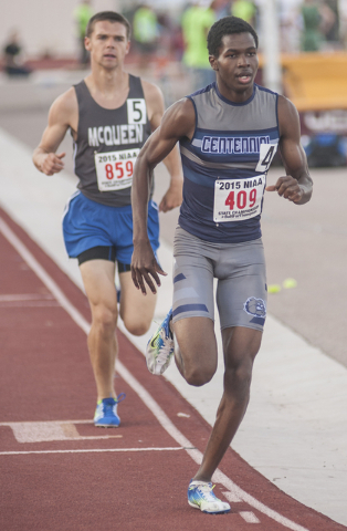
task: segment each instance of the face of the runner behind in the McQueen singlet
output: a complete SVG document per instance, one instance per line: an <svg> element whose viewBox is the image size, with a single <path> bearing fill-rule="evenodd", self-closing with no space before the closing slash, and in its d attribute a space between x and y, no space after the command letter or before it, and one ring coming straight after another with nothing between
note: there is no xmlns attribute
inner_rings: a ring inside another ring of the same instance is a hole
<svg viewBox="0 0 347 531"><path fill-rule="evenodd" d="M85 38L85 48L91 52L92 62L109 70L124 62L129 46L126 28L120 22L98 21L91 38Z"/></svg>

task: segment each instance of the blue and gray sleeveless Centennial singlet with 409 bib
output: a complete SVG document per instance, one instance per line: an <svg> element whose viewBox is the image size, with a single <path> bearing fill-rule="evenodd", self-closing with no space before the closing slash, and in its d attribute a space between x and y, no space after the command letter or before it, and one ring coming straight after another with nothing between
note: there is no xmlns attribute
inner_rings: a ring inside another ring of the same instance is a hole
<svg viewBox="0 0 347 531"><path fill-rule="evenodd" d="M211 242L261 238L266 174L280 140L278 95L254 85L246 102L233 103L213 83L188 97L196 129L191 140L180 140L185 184L179 225Z"/></svg>

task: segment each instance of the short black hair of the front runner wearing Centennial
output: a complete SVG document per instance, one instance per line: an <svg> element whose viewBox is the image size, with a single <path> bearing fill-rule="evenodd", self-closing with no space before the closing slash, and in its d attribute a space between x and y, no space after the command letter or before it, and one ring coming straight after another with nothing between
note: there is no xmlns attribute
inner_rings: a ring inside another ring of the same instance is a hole
<svg viewBox="0 0 347 531"><path fill-rule="evenodd" d="M251 35L254 38L255 48L257 48L257 34L251 24L243 19L239 19L238 17L224 17L223 19L214 22L214 24L210 28L208 34L209 54L218 58L219 50L222 46L223 37L232 35L234 33L251 33Z"/></svg>

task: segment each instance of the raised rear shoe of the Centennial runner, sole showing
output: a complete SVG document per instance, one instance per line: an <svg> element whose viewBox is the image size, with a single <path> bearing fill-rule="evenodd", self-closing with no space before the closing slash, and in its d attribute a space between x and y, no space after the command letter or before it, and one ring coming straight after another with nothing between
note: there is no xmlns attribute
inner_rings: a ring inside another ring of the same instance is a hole
<svg viewBox="0 0 347 531"><path fill-rule="evenodd" d="M172 309L169 311L157 332L150 337L146 348L146 362L151 374L160 375L170 365L175 351L174 335L170 330Z"/></svg>

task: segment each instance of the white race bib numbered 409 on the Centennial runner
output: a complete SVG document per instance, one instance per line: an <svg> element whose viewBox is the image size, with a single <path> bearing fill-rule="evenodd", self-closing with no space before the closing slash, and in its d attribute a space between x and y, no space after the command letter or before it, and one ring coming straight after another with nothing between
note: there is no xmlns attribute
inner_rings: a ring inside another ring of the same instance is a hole
<svg viewBox="0 0 347 531"><path fill-rule="evenodd" d="M213 221L243 221L261 214L265 175L214 183Z"/></svg>

